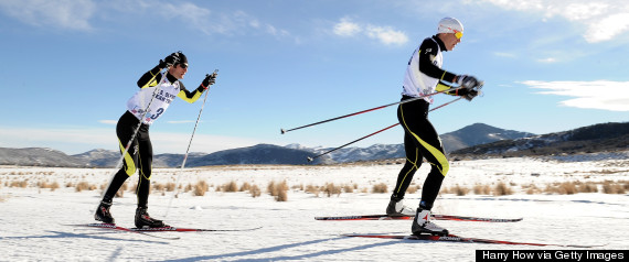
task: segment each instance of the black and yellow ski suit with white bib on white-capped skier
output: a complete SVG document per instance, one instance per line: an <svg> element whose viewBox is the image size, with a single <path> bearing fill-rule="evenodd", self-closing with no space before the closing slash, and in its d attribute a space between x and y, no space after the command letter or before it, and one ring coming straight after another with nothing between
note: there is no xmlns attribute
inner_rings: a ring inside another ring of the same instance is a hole
<svg viewBox="0 0 629 262"><path fill-rule="evenodd" d="M444 42L436 35L424 40L419 47L415 50L408 62L402 100L446 90L451 87L444 80L454 81L456 75L440 68L441 51L445 50ZM456 96L459 94L448 95ZM423 159L426 159L431 168L422 187L419 207L423 209L433 207L441 188L441 183L449 170L439 134L428 120L428 108L431 101L431 98L417 99L402 103L397 108L397 119L404 129L406 163L399 171L391 199L398 201L404 198L415 172L422 166Z"/></svg>

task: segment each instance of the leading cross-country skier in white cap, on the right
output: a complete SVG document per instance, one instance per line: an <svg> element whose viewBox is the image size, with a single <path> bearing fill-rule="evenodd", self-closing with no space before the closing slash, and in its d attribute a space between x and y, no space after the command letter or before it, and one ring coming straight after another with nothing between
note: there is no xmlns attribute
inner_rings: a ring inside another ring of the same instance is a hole
<svg viewBox="0 0 629 262"><path fill-rule="evenodd" d="M437 34L425 39L413 52L406 74L402 100L422 97L435 91L451 88L447 83L458 84L461 89L449 91L448 95L462 96L468 100L478 96L475 87L480 85L473 76L455 75L441 69L443 52L451 51L461 42L463 25L457 19L444 18L439 21ZM390 216L413 216L412 231L430 234L448 234L448 230L431 222L433 204L437 198L441 182L449 170L448 160L439 135L428 120L428 107L433 99L426 97L411 102L401 103L397 108L397 119L404 128L404 149L406 163L399 171L397 183L393 189L391 201L386 208ZM417 210L403 205L404 194L413 175L422 165L423 159L431 165L430 173L424 182L422 199Z"/></svg>

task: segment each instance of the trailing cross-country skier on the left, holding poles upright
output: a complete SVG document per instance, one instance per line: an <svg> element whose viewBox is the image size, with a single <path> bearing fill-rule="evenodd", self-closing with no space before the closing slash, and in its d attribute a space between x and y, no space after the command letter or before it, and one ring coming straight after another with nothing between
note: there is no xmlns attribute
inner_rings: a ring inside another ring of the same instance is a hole
<svg viewBox="0 0 629 262"><path fill-rule="evenodd" d="M168 70L162 73L161 70L164 68ZM163 221L151 218L147 212L153 157L149 127L163 114L177 97L192 103L216 80L216 73L207 75L196 89L189 91L180 81L186 72L188 58L180 51L160 59L156 67L145 73L138 80L140 90L127 101L127 111L120 117L116 125L120 151L125 152L125 146L130 139L132 139L132 143L124 155L124 166L114 176L94 215L96 220L106 223L115 222L109 212L111 200L125 181L132 176L136 171L139 171L136 189L138 195L136 227L166 227ZM138 133L131 138L138 125L140 127Z"/></svg>

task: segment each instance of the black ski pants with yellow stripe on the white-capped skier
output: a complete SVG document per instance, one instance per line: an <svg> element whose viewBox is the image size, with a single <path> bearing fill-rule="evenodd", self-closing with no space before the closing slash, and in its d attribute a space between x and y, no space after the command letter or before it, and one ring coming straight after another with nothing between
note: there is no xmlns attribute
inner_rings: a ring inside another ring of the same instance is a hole
<svg viewBox="0 0 629 262"><path fill-rule="evenodd" d="M402 100L411 99L404 96ZM402 103L397 107L397 119L404 129L404 150L406 162L397 175L392 199L404 198L415 172L422 166L423 159L430 164L430 173L422 188L419 207L431 209L441 188L441 183L449 170L448 160L439 134L428 120L429 103L424 99Z"/></svg>

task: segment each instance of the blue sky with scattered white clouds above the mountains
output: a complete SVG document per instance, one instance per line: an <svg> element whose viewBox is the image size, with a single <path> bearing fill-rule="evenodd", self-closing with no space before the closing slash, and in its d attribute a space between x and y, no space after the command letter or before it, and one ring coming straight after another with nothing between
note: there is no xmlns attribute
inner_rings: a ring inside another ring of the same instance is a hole
<svg viewBox="0 0 629 262"><path fill-rule="evenodd" d="M486 86L430 114L439 133L629 121L621 0L2 0L0 146L116 150L137 79L175 51L189 57L186 87L220 69L191 151L338 146L395 123L395 107L279 130L397 101L412 52L444 17L465 25L444 68ZM201 102L175 100L151 127L156 153L185 152ZM356 145L375 143L402 143L402 130Z"/></svg>

